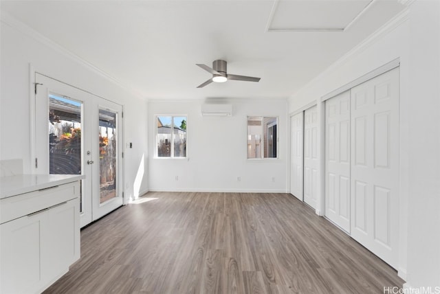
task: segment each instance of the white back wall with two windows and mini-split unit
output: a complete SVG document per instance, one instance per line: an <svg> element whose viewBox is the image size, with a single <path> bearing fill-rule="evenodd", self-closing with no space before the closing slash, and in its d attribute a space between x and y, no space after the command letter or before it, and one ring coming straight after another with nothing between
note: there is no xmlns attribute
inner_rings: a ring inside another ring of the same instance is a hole
<svg viewBox="0 0 440 294"><path fill-rule="evenodd" d="M228 100L223 103L232 104L232 116L202 117L202 100L148 102L149 190L287 191L286 101ZM154 158L155 115L188 116L188 159ZM247 159L248 115L278 117L278 159ZM241 177L241 181L237 181L237 177Z"/></svg>

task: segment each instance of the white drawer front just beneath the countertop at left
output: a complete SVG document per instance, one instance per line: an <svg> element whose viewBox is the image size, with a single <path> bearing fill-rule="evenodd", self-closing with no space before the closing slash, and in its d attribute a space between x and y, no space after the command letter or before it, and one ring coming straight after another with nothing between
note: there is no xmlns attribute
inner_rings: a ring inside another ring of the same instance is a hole
<svg viewBox="0 0 440 294"><path fill-rule="evenodd" d="M45 210L80 195L79 182L67 183L0 200L0 223Z"/></svg>

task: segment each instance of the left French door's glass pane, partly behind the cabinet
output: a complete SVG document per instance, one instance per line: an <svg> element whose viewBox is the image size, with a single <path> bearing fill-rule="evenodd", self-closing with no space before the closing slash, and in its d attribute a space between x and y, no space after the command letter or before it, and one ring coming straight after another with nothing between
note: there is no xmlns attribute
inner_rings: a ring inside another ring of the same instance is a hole
<svg viewBox="0 0 440 294"><path fill-rule="evenodd" d="M81 111L83 104L49 95L49 172L81 174ZM82 183L81 183L82 184ZM80 212L83 197L80 197Z"/></svg>

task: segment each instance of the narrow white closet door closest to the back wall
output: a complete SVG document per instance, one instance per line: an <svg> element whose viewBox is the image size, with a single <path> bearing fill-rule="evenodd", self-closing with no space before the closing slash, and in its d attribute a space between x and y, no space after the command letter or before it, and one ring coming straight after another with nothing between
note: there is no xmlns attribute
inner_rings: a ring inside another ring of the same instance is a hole
<svg viewBox="0 0 440 294"><path fill-rule="evenodd" d="M290 193L303 201L303 113L290 117Z"/></svg>

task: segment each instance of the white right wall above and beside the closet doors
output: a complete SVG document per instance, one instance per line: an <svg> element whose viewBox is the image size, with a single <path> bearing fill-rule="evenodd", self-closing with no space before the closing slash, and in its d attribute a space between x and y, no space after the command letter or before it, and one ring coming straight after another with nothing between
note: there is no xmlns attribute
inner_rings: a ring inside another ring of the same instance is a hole
<svg viewBox="0 0 440 294"><path fill-rule="evenodd" d="M289 111L399 58L398 273L418 288L440 286L440 1L407 3L406 12L292 95Z"/></svg>

